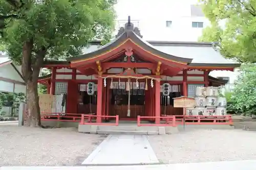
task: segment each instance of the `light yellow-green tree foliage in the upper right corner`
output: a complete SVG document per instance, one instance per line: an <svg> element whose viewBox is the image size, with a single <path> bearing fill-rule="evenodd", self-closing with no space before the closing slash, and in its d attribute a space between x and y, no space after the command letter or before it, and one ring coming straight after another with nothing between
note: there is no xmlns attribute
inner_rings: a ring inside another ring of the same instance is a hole
<svg viewBox="0 0 256 170"><path fill-rule="evenodd" d="M256 0L199 0L211 26L199 41L219 42L221 53L256 62Z"/></svg>

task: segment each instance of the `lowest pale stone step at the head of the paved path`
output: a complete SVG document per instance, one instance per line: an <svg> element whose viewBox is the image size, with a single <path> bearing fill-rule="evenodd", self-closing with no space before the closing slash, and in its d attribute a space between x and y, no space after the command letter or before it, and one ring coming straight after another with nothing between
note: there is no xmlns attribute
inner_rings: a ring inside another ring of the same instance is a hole
<svg viewBox="0 0 256 170"><path fill-rule="evenodd" d="M131 134L131 135L158 135L158 131L139 130L97 130L98 134Z"/></svg>

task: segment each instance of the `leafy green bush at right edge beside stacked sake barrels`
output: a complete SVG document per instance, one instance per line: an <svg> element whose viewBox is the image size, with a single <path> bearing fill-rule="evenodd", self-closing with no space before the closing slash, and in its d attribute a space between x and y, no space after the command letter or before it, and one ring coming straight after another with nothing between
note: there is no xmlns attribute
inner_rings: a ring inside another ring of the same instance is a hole
<svg viewBox="0 0 256 170"><path fill-rule="evenodd" d="M256 66L241 67L241 76L236 82L231 102L232 109L244 115L256 113Z"/></svg>

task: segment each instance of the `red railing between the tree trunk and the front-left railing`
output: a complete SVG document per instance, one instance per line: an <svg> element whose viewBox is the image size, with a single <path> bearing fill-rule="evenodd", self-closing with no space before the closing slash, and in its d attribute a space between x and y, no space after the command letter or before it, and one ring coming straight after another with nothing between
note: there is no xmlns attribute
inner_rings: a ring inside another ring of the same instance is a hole
<svg viewBox="0 0 256 170"><path fill-rule="evenodd" d="M59 122L80 122L81 114L77 113L41 113L43 121L59 121Z"/></svg>

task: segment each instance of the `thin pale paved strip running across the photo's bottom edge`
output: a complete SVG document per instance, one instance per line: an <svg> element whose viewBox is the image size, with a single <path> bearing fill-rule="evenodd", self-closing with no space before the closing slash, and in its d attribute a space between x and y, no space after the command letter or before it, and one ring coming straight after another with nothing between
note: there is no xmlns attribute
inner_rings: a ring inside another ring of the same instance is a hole
<svg viewBox="0 0 256 170"><path fill-rule="evenodd" d="M256 160L134 166L20 166L0 170L255 170Z"/></svg>

